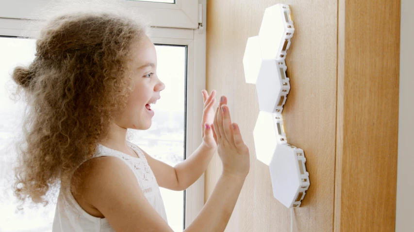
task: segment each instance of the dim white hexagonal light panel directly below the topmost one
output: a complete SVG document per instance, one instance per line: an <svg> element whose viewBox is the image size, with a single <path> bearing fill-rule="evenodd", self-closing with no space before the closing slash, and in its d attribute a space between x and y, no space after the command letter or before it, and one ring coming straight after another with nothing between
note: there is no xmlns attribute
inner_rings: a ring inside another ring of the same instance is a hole
<svg viewBox="0 0 414 232"><path fill-rule="evenodd" d="M256 81L259 109L268 113L282 113L290 90L286 65L275 59L262 60Z"/></svg>

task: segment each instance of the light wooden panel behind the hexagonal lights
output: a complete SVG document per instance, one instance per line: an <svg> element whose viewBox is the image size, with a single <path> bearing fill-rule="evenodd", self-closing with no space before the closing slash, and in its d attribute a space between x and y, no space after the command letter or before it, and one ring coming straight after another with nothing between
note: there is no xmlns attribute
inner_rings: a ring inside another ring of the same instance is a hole
<svg viewBox="0 0 414 232"><path fill-rule="evenodd" d="M294 231L333 231L337 0L208 0L207 89L226 95L234 122L250 149L251 168L228 232L287 232L290 210L273 198L268 167L256 160L253 129L259 114L254 85L246 84L243 55L248 37L259 33L265 8L289 4L295 35L288 51L291 91L283 110L288 142L305 151L311 187L295 209ZM221 174L213 158L205 175L207 199Z"/></svg>

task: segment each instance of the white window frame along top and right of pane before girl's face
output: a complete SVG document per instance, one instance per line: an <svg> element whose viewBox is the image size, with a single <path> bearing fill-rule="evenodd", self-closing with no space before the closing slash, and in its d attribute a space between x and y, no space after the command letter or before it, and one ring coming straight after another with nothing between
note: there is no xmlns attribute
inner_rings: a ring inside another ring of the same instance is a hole
<svg viewBox="0 0 414 232"><path fill-rule="evenodd" d="M204 8L204 7L203 7ZM205 15L205 14L204 14ZM201 117L206 87L205 33L193 29L155 28L151 40L158 44L187 46L187 108L186 108L186 157L201 144ZM204 206L204 174L185 193L185 228L197 217Z"/></svg>

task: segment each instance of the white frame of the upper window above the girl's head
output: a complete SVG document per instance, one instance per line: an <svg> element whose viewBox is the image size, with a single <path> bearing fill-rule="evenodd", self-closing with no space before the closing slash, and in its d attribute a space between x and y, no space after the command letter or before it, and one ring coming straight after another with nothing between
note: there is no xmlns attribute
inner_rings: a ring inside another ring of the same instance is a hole
<svg viewBox="0 0 414 232"><path fill-rule="evenodd" d="M0 0L0 18L30 19L33 11L50 0ZM198 0L175 0L175 3L124 0L138 14L150 18L151 26L197 29Z"/></svg>

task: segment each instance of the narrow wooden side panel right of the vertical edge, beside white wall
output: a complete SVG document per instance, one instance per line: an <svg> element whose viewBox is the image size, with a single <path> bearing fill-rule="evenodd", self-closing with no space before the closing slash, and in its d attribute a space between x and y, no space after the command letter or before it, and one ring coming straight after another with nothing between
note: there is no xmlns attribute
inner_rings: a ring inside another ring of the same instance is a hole
<svg viewBox="0 0 414 232"><path fill-rule="evenodd" d="M339 0L335 232L394 231L399 0Z"/></svg>

